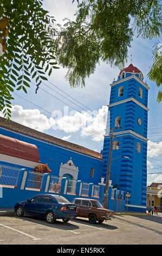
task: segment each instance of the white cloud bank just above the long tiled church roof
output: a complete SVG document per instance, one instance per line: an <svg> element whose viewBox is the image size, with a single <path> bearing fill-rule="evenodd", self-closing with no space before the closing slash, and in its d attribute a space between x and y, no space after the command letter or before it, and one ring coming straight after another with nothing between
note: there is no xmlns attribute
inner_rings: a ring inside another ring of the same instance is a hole
<svg viewBox="0 0 162 256"><path fill-rule="evenodd" d="M63 115L61 111L54 111L50 118L41 114L39 109L24 109L20 105L12 106L11 120L37 131L44 132L48 129L62 130L66 133L81 130L81 137L92 136L93 141L102 141L105 134L107 106L102 106L99 111L76 112ZM1 116L3 114L1 113ZM64 136L67 140L71 137Z"/></svg>

